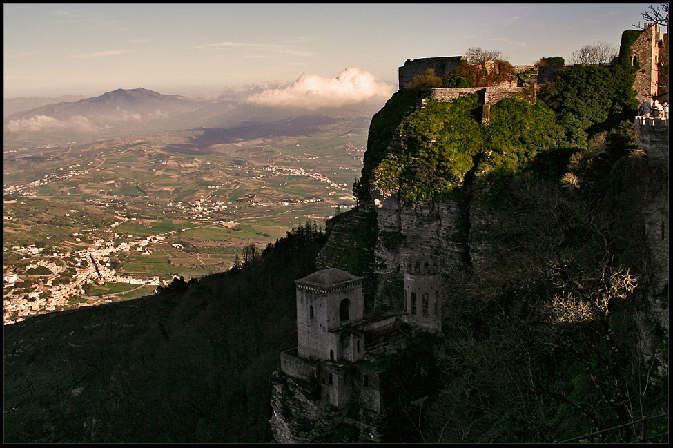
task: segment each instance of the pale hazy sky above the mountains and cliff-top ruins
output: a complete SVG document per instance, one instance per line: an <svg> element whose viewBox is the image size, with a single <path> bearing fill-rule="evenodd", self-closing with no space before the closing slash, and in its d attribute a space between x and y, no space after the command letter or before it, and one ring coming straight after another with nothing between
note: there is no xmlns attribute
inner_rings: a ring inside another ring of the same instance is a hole
<svg viewBox="0 0 673 448"><path fill-rule="evenodd" d="M4 97L195 95L302 74L326 86L348 67L397 84L407 59L473 46L512 64L567 61L589 43L618 46L647 5L5 4Z"/></svg>

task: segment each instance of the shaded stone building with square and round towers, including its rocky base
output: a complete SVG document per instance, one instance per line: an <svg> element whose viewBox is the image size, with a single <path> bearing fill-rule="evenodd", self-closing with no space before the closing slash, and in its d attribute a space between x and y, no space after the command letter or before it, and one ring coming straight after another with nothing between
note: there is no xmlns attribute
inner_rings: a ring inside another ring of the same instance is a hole
<svg viewBox="0 0 673 448"><path fill-rule="evenodd" d="M440 259L408 262L404 310L366 316L362 277L336 268L295 280L297 347L281 353L272 377L277 442L324 442L347 422L360 442L381 441L385 369L377 356L405 346L400 324L441 330Z"/></svg>

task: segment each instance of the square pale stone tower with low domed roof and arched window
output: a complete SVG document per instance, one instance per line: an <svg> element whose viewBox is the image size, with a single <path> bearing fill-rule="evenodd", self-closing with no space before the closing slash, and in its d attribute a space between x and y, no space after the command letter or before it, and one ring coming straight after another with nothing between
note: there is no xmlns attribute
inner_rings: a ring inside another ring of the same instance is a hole
<svg viewBox="0 0 673 448"><path fill-rule="evenodd" d="M351 362L364 357L364 339L342 336L342 327L363 319L362 277L328 268L295 280L295 285L298 356Z"/></svg>

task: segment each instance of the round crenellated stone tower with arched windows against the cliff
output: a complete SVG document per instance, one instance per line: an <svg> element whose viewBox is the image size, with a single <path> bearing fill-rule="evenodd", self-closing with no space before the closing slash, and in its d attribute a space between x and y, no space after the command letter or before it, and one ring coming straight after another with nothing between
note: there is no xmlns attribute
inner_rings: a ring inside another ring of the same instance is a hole
<svg viewBox="0 0 673 448"><path fill-rule="evenodd" d="M427 331L442 331L441 258L404 262L404 303L410 324Z"/></svg>

